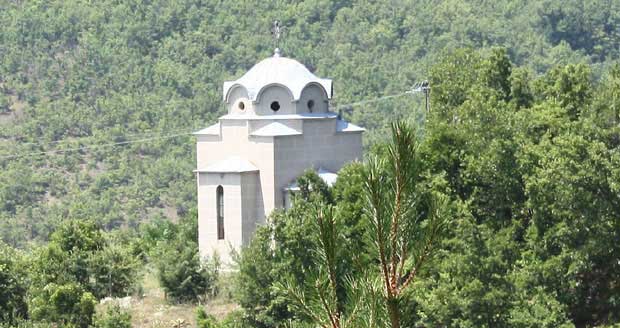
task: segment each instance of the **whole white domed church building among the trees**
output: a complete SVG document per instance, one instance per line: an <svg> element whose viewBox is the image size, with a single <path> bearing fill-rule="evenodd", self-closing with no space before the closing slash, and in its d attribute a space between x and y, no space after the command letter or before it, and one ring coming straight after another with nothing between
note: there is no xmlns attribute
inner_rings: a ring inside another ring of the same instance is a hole
<svg viewBox="0 0 620 328"><path fill-rule="evenodd" d="M290 206L306 170L331 184L361 160L364 129L330 111L330 79L277 49L223 91L228 113L194 134L200 255L227 266L271 211Z"/></svg>

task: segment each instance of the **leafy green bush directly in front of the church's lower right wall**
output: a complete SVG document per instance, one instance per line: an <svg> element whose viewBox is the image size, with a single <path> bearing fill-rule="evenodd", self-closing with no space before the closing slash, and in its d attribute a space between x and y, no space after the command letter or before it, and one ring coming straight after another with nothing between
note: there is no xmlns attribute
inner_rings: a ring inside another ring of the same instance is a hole
<svg viewBox="0 0 620 328"><path fill-rule="evenodd" d="M361 167L349 164L339 175L333 188L329 188L315 172L308 171L298 181L300 193L295 195L292 207L276 211L270 224L257 229L250 244L239 259L235 298L245 310L247 325L253 327L276 327L281 322L294 320L284 284L305 284L315 281L310 272L316 267L317 223L314 215L319 204L331 204L337 200L334 217L343 229L343 237L352 245L365 245L361 220L359 191L361 190ZM368 263L367 256L339 255L339 286L344 286L346 272L354 271ZM283 274L285 273L285 274ZM343 288L337 293L342 297Z"/></svg>

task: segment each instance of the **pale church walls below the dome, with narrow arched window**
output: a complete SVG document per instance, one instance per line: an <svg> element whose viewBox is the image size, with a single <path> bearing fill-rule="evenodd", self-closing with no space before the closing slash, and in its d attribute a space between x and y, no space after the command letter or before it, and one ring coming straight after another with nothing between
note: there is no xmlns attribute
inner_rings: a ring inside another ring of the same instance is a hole
<svg viewBox="0 0 620 328"><path fill-rule="evenodd" d="M276 116L276 115L273 115ZM252 131L278 122L301 135L250 136ZM336 118L221 119L220 136L199 136L198 170L240 157L259 171L198 173L199 246L202 256L219 253L230 263L230 247L239 249L252 238L266 216L284 205L284 188L307 169L338 172L348 162L362 159L362 133L337 132ZM226 241L217 240L216 188L224 187Z"/></svg>

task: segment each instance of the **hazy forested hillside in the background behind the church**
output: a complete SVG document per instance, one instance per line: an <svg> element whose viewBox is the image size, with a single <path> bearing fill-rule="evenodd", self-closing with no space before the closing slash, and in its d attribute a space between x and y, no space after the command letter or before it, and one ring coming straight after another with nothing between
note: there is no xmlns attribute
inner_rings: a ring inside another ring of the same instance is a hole
<svg viewBox="0 0 620 328"><path fill-rule="evenodd" d="M618 57L619 6L0 1L2 239L44 240L66 218L114 228L186 213L195 203L193 139L165 136L222 113L222 82L271 55L274 19L286 26L285 54L333 78L335 101L345 104L401 93L427 79L440 54L462 47L506 47L536 73L589 62L599 75ZM349 118L375 140L387 122L411 116L414 101L356 106Z"/></svg>

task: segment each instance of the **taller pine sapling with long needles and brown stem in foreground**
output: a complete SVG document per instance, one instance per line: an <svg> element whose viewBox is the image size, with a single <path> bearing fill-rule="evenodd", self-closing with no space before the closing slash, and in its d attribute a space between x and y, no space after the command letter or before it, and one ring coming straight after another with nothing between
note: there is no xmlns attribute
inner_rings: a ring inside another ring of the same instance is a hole
<svg viewBox="0 0 620 328"><path fill-rule="evenodd" d="M402 295L435 254L449 215L444 195L420 192L418 147L415 130L394 124L388 156L371 160L365 172L365 213L393 328L401 326Z"/></svg>

